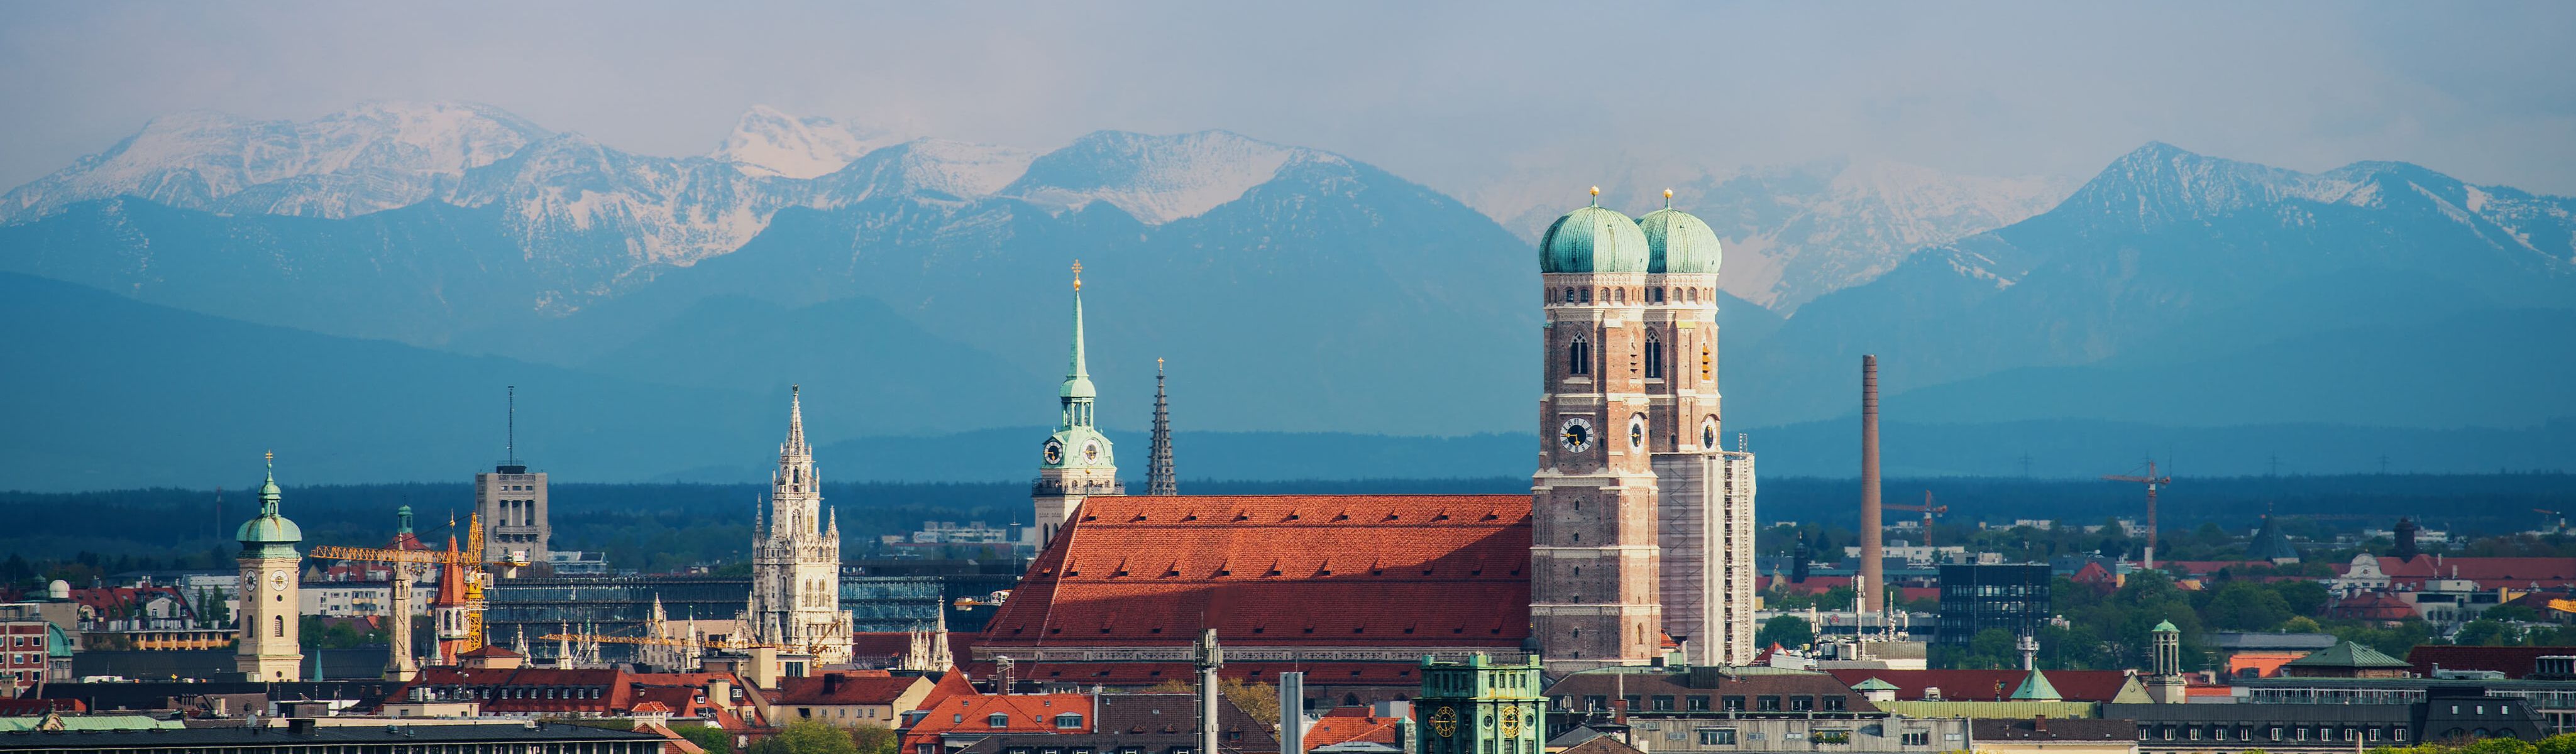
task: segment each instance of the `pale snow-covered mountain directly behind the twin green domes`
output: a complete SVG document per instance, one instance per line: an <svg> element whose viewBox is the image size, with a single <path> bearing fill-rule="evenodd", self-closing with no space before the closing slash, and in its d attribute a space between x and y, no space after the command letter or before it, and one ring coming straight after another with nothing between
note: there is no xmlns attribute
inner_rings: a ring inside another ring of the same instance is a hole
<svg viewBox="0 0 2576 754"><path fill-rule="evenodd" d="M1553 172L1551 172L1553 175ZM2048 211L2069 190L2063 178L1953 175L1904 162L1826 160L1744 170L1636 165L1602 185L1602 203L1649 211L1662 190L1698 214L1726 244L1718 288L1736 299L1798 311L1816 296L1886 275L1914 250L1999 229ZM1546 201L1520 185L1540 172L1479 193L1476 208L1525 239L1538 239L1571 208L1569 190ZM1556 180L1564 183L1564 180Z"/></svg>

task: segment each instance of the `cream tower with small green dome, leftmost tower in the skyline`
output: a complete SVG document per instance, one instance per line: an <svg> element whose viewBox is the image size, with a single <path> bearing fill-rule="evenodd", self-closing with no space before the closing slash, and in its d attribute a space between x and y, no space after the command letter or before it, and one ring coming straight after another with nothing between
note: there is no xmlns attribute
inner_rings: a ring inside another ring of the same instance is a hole
<svg viewBox="0 0 2576 754"><path fill-rule="evenodd" d="M260 484L260 515L242 522L242 610L234 615L240 643L232 667L252 682L304 679L301 582L304 528L278 512L278 453L268 453L268 481Z"/></svg>

